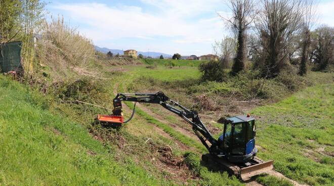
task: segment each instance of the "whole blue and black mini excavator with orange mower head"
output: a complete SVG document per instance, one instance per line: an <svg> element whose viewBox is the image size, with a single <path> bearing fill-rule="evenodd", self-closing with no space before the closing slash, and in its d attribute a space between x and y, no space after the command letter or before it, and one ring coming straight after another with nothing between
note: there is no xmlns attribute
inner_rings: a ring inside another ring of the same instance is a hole
<svg viewBox="0 0 334 186"><path fill-rule="evenodd" d="M202 160L217 162L222 169L235 174L242 180L248 180L252 176L273 169L273 161L263 162L256 157L258 149L255 146L255 118L249 115L219 119L218 122L224 125L224 131L216 140L202 123L196 111L183 107L159 91L155 94L117 94L113 100L112 115L98 115L98 120L117 127L130 121L134 116L135 107L131 117L124 121L122 101L135 102L135 106L137 102L159 104L177 114L192 125L194 133L208 150L208 154L202 155Z"/></svg>

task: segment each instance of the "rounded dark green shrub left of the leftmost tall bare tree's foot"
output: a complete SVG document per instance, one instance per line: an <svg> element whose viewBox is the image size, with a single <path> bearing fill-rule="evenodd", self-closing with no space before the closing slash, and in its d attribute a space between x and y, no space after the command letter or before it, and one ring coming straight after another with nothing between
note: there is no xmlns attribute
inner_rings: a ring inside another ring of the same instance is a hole
<svg viewBox="0 0 334 186"><path fill-rule="evenodd" d="M227 74L221 66L221 62L210 61L207 63L201 63L198 66L199 71L202 73L203 81L219 81L226 80Z"/></svg>

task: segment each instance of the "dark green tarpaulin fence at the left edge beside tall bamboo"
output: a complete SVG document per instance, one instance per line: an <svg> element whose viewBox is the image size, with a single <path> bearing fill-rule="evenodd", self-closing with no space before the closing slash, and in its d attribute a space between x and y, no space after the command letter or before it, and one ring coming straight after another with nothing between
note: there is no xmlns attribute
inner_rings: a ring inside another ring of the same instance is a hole
<svg viewBox="0 0 334 186"><path fill-rule="evenodd" d="M0 43L0 72L22 69L21 48L21 41Z"/></svg>

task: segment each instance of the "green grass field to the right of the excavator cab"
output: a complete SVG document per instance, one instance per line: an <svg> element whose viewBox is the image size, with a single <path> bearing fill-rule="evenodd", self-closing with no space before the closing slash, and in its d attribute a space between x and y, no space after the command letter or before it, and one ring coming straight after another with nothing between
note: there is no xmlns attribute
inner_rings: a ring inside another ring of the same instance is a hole
<svg viewBox="0 0 334 186"><path fill-rule="evenodd" d="M334 84L306 88L252 114L258 120L259 156L276 171L310 185L334 183Z"/></svg>

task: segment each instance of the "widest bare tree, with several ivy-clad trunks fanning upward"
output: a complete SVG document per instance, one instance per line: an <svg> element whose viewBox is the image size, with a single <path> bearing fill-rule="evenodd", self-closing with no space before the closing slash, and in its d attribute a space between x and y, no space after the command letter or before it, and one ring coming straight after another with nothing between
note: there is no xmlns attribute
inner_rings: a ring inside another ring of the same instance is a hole
<svg viewBox="0 0 334 186"><path fill-rule="evenodd" d="M301 31L304 0L261 0L256 28L262 39L266 77L275 77L284 67L288 51Z"/></svg>

